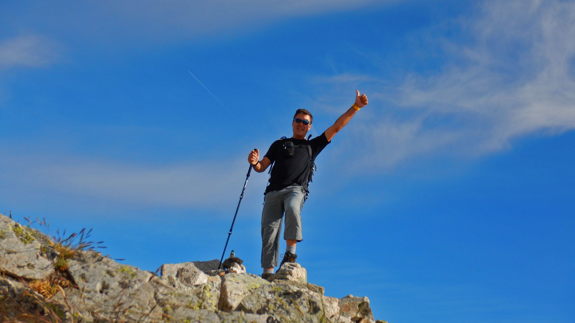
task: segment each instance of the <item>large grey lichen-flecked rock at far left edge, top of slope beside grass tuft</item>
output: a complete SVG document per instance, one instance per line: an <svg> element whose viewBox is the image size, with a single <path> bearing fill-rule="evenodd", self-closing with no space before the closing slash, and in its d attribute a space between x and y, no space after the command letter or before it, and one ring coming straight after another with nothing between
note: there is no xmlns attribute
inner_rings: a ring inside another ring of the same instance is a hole
<svg viewBox="0 0 575 323"><path fill-rule="evenodd" d="M47 278L54 266L40 256L38 235L37 230L0 215L0 271L26 279Z"/></svg>

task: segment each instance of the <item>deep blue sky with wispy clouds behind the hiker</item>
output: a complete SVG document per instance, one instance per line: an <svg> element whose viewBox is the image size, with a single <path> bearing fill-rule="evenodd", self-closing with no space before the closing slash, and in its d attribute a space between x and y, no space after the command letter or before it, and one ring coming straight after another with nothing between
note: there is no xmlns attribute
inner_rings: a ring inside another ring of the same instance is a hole
<svg viewBox="0 0 575 323"><path fill-rule="evenodd" d="M575 320L575 2L3 1L0 210L219 258L247 153L319 135L298 260L401 322ZM217 99L189 74L191 71ZM218 102L218 100L220 102ZM228 250L259 274L267 174Z"/></svg>

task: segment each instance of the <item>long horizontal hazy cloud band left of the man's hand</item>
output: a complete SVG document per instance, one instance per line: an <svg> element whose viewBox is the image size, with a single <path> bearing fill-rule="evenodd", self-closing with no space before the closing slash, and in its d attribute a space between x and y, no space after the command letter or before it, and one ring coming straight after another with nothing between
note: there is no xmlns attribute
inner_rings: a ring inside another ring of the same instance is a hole
<svg viewBox="0 0 575 323"><path fill-rule="evenodd" d="M248 164L242 159L142 166L60 155L8 155L0 161L0 168L2 190L11 187L48 195L57 193L60 199L71 203L78 203L78 197L84 197L91 199L89 204L96 208L97 201L106 201L137 207L229 211L230 205L237 203ZM266 179L266 176L253 176L251 186L263 187Z"/></svg>

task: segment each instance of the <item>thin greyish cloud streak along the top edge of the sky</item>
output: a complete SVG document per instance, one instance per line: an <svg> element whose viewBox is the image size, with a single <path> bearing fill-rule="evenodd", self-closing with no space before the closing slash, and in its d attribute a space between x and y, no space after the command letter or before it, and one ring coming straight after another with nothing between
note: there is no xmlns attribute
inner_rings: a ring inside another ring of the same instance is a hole
<svg viewBox="0 0 575 323"><path fill-rule="evenodd" d="M237 34L286 18L354 10L366 5L382 6L399 1L36 1L11 5L10 16L2 17L0 14L0 18L14 28L25 25L26 28L49 29L57 34L86 39L87 44L98 40L125 45L134 40L164 43L216 33Z"/></svg>

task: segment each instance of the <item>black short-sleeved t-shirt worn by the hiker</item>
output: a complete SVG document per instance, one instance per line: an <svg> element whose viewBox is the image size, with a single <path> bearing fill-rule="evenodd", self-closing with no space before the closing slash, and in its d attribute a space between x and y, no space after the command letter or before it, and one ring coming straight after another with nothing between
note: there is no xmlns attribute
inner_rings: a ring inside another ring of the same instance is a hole
<svg viewBox="0 0 575 323"><path fill-rule="evenodd" d="M309 145L312 148L312 160L309 159L307 147L296 147L292 157L285 156L283 146L288 141L291 141L294 146ZM289 138L274 141L266 153L266 157L275 162L271 169L270 184L266 187L266 193L285 189L293 184L305 187L313 161L328 144L325 132L312 140Z"/></svg>

